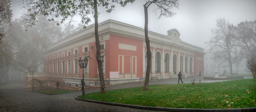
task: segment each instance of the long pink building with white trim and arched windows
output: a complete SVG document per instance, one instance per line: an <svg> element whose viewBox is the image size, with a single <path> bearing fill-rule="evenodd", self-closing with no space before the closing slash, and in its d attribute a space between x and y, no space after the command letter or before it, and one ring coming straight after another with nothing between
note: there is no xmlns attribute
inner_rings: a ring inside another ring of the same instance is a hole
<svg viewBox="0 0 256 112"><path fill-rule="evenodd" d="M147 56L144 29L115 20L99 23L99 37L102 38L100 52L105 81L110 85L137 82L145 77ZM190 74L204 74L203 48L180 40L176 29L168 35L148 32L152 67L150 76L159 79L177 78L182 71L184 77ZM91 47L94 46L95 52ZM45 72L51 80L80 82L82 69L78 59L90 56L85 71L85 82L99 82L94 24L81 29L45 48Z"/></svg>

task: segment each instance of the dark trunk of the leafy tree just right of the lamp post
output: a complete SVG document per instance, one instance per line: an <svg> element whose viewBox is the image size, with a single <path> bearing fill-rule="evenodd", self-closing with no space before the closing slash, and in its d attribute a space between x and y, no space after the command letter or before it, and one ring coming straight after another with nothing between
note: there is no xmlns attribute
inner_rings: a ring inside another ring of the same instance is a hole
<svg viewBox="0 0 256 112"><path fill-rule="evenodd" d="M100 59L100 44L99 44L99 34L98 34L98 11L97 11L97 0L94 1L94 20L95 20L95 43L96 43L96 58L98 63L98 70L99 70L99 81L100 81L100 92L105 93L106 87L105 87L105 81L103 77L103 68L102 68L102 62Z"/></svg>

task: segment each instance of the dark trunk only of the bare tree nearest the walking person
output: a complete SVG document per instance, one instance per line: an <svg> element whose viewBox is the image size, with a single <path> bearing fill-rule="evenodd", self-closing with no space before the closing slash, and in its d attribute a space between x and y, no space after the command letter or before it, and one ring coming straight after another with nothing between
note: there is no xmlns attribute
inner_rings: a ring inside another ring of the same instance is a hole
<svg viewBox="0 0 256 112"><path fill-rule="evenodd" d="M149 72L151 68L151 52L150 52L150 44L149 44L149 38L148 38L148 7L146 5L144 6L144 13L145 13L145 42L147 45L147 70L146 70L146 78L145 83L142 90L148 90L148 83L149 83ZM144 52L143 52L144 53ZM145 57L143 57L145 58Z"/></svg>

